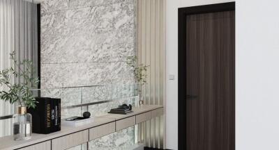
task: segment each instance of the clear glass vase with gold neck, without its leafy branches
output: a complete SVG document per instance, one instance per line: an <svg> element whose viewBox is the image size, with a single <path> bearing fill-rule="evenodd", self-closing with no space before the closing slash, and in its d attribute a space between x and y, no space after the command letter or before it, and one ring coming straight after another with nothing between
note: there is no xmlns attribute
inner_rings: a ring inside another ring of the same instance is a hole
<svg viewBox="0 0 279 150"><path fill-rule="evenodd" d="M32 115L24 106L18 107L18 113L13 115L14 140L29 140L32 133Z"/></svg>

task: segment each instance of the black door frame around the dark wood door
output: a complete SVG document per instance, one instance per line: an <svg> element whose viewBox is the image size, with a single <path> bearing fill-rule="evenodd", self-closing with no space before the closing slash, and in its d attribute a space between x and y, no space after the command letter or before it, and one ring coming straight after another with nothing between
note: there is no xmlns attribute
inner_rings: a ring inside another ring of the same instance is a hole
<svg viewBox="0 0 279 150"><path fill-rule="evenodd" d="M186 149L186 17L187 15L235 10L235 2L179 8L179 150Z"/></svg>

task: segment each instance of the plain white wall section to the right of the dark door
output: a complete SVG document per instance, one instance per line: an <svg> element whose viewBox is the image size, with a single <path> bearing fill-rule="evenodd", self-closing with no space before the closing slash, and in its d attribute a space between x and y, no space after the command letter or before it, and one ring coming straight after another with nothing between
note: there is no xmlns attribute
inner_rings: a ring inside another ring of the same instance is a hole
<svg viewBox="0 0 279 150"><path fill-rule="evenodd" d="M279 149L278 6L236 1L236 150Z"/></svg>

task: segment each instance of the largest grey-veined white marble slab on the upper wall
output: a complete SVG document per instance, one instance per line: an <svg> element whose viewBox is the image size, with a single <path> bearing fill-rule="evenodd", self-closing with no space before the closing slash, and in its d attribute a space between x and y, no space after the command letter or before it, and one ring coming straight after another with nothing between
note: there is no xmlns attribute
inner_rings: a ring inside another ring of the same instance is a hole
<svg viewBox="0 0 279 150"><path fill-rule="evenodd" d="M133 3L42 15L42 63L125 61L135 55Z"/></svg>

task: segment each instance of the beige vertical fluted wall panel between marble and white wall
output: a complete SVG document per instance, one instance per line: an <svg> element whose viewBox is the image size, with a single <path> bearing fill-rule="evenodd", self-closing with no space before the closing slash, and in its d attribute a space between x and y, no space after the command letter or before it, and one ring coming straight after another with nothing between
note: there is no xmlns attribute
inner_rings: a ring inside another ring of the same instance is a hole
<svg viewBox="0 0 279 150"><path fill-rule="evenodd" d="M144 103L165 105L165 0L137 1L137 55L149 65ZM165 148L165 115L139 124L138 137L147 147Z"/></svg>

